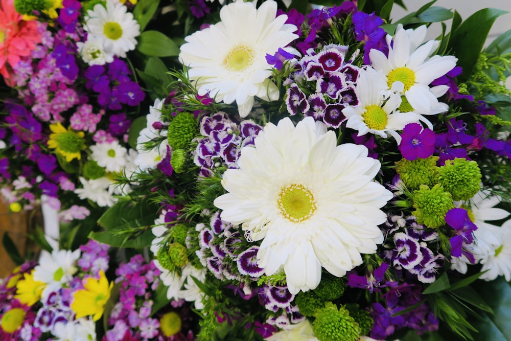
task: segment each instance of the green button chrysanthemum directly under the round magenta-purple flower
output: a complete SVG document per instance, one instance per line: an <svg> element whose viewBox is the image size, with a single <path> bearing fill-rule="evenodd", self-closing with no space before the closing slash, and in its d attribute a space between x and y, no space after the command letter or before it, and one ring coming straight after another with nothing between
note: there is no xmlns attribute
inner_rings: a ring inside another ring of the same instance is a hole
<svg viewBox="0 0 511 341"><path fill-rule="evenodd" d="M438 179L437 161L438 156L417 158L413 161L402 158L396 163L396 171L409 190L419 189L421 185L431 187L437 183Z"/></svg>

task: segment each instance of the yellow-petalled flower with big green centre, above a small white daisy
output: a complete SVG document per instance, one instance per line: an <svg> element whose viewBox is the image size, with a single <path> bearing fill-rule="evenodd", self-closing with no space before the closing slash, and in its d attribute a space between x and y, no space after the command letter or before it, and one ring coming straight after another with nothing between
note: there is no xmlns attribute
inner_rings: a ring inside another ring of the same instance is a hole
<svg viewBox="0 0 511 341"><path fill-rule="evenodd" d="M83 131L74 131L66 129L62 124L50 124L53 134L50 134L48 147L57 150L57 153L65 157L67 162L73 161L75 158L80 160L80 152L85 149L85 140Z"/></svg>

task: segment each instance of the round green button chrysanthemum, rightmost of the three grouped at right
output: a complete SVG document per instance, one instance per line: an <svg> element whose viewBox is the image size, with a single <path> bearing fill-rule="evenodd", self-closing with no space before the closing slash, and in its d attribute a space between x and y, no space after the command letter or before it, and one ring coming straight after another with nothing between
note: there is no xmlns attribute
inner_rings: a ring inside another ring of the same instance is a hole
<svg viewBox="0 0 511 341"><path fill-rule="evenodd" d="M481 171L477 162L456 157L439 168L438 182L453 200L469 200L481 189Z"/></svg>

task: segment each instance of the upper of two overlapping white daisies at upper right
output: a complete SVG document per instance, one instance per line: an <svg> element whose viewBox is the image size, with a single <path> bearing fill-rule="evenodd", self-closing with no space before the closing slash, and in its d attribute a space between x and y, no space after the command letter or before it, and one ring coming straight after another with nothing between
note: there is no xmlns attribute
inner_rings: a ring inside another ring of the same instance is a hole
<svg viewBox="0 0 511 341"><path fill-rule="evenodd" d="M369 52L371 65L383 71L387 77L386 89L404 95L414 112L420 115L434 115L447 111L448 105L439 103L438 97L449 89L446 85L429 87L438 77L444 76L456 66L454 56L432 56L439 41L430 40L419 46L426 37L426 26L416 30L405 30L401 24L392 37L387 35L388 57L378 50ZM407 110L408 111L408 110ZM431 123L423 119L430 126Z"/></svg>

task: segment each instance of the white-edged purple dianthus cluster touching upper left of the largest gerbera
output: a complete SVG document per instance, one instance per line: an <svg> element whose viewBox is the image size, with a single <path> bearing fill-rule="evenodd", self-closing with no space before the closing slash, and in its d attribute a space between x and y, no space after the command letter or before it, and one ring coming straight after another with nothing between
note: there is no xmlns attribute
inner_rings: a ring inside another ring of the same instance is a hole
<svg viewBox="0 0 511 341"><path fill-rule="evenodd" d="M253 145L262 127L245 120L239 125L223 112L204 117L200 122L199 140L194 153L194 163L200 167L199 176L211 176L215 168L237 168L241 148Z"/></svg>

